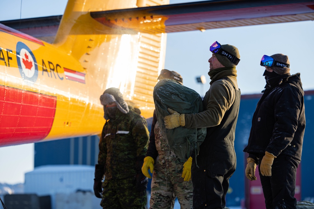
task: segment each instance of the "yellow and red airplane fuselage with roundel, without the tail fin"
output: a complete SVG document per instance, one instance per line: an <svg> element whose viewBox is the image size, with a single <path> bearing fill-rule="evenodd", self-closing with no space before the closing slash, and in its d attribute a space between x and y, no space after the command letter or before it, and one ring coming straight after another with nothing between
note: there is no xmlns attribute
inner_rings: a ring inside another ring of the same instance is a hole
<svg viewBox="0 0 314 209"><path fill-rule="evenodd" d="M4 25L0 33L0 146L98 134L99 86L78 60Z"/></svg>

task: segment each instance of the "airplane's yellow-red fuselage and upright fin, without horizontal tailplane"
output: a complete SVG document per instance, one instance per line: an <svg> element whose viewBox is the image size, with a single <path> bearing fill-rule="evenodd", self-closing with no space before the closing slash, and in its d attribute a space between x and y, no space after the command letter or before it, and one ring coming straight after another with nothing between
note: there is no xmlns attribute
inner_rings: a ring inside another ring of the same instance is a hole
<svg viewBox="0 0 314 209"><path fill-rule="evenodd" d="M136 5L106 2L105 9ZM88 12L98 4L70 0L53 44L0 28L0 146L99 134L99 97L109 87L152 117L165 35L104 34Z"/></svg>

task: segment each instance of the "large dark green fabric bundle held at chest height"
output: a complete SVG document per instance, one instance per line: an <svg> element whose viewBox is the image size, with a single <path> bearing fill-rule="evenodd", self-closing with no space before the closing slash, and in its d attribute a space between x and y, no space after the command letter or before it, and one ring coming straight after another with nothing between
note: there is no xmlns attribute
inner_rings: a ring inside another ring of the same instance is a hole
<svg viewBox="0 0 314 209"><path fill-rule="evenodd" d="M204 110L202 98L199 94L182 86L178 81L162 79L154 87L154 102L156 116L161 127L161 132L170 149L181 160L187 160L192 152L198 154L199 146L206 136L206 128L177 127L167 129L164 117L170 115L167 108L171 108L180 114L198 113ZM192 156L194 158L194 156Z"/></svg>

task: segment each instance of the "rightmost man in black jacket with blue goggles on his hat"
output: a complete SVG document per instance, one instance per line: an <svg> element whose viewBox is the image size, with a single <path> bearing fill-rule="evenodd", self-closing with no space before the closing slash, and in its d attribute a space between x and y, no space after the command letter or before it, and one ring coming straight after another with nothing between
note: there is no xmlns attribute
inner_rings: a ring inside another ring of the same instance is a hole
<svg viewBox="0 0 314 209"><path fill-rule="evenodd" d="M290 62L283 54L264 55L261 65L266 86L243 150L249 154L245 173L249 180L256 180L259 165L267 209L296 209L296 169L306 124L300 73L290 75Z"/></svg>

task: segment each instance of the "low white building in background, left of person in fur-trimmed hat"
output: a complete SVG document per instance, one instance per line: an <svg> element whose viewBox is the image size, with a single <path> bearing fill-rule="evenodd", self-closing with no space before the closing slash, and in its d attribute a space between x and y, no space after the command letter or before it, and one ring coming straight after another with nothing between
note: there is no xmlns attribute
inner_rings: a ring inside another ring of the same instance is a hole
<svg viewBox="0 0 314 209"><path fill-rule="evenodd" d="M38 166L25 174L24 193L51 197L53 209L100 208L93 191L94 171L91 165Z"/></svg>

